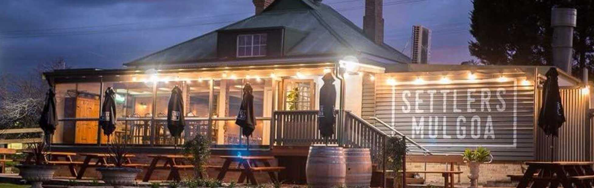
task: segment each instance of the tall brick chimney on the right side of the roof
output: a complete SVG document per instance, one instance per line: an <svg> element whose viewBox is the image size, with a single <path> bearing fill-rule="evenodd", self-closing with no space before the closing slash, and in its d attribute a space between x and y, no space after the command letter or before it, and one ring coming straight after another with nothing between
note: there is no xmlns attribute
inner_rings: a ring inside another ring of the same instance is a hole
<svg viewBox="0 0 594 188"><path fill-rule="evenodd" d="M384 43L384 0L365 0L363 31L376 44Z"/></svg>

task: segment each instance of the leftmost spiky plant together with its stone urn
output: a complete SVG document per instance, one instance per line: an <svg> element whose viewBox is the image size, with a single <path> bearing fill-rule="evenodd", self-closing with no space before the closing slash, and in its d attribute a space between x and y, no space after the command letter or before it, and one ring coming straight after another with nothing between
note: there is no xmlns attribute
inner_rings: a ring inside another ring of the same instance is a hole
<svg viewBox="0 0 594 188"><path fill-rule="evenodd" d="M47 145L45 142L29 144L31 154L34 157L34 164L17 165L20 170L19 175L24 180L31 183L32 188L42 188L43 181L52 180L53 173L56 171L56 166L48 165L46 160Z"/></svg>

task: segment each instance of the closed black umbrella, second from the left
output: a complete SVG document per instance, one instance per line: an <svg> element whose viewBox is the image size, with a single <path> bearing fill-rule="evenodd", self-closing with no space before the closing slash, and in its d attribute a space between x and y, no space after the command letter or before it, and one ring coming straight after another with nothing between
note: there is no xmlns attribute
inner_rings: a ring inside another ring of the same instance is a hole
<svg viewBox="0 0 594 188"><path fill-rule="evenodd" d="M115 130L117 122L116 107L115 107L115 90L108 87L103 96L103 106L101 107L101 116L99 117L99 126L103 129L103 134L109 136Z"/></svg>

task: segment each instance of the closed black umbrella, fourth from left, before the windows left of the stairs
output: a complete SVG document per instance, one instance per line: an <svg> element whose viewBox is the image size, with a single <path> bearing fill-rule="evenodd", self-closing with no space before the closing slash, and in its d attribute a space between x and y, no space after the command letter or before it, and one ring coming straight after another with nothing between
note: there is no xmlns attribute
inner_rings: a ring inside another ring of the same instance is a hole
<svg viewBox="0 0 594 188"><path fill-rule="evenodd" d="M252 135L256 126L256 117L254 116L254 95L252 95L252 86L246 83L244 86L244 97L241 100L241 107L239 107L239 113L235 124L241 126L242 135L248 140L249 149L249 136Z"/></svg>

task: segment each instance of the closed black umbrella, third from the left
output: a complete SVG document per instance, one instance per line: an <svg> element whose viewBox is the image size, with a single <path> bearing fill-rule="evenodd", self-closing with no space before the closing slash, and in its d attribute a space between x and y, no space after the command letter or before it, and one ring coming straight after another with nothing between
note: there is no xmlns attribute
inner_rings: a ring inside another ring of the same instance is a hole
<svg viewBox="0 0 594 188"><path fill-rule="evenodd" d="M184 132L184 98L182 98L182 90L176 85L171 90L171 97L169 97L169 106L167 109L167 128L171 136L178 138Z"/></svg>

